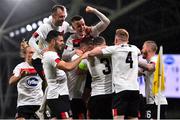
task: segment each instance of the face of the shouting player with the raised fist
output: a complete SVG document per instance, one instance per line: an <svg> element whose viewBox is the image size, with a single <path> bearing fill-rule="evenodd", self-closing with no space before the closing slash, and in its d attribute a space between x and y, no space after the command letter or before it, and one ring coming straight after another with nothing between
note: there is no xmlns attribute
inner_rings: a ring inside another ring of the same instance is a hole
<svg viewBox="0 0 180 120"><path fill-rule="evenodd" d="M81 19L79 21L74 21L72 23L73 29L76 31L76 33L80 36L84 36L85 35L85 22L84 19Z"/></svg>

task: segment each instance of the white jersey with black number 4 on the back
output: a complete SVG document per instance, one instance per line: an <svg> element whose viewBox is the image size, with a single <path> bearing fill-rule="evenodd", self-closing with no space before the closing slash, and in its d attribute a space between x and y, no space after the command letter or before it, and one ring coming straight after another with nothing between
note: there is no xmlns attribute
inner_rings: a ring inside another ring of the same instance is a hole
<svg viewBox="0 0 180 120"><path fill-rule="evenodd" d="M109 46L102 49L112 59L112 79L115 93L124 90L139 90L138 55L140 50L129 44Z"/></svg>

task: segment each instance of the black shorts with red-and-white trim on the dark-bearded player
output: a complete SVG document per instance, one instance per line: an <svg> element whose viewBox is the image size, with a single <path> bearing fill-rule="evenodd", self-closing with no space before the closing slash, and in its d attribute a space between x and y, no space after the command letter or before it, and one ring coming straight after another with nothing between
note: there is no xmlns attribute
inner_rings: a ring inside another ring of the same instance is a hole
<svg viewBox="0 0 180 120"><path fill-rule="evenodd" d="M71 117L68 95L62 95L56 99L47 99L47 104L51 110L51 117L56 117L57 119L67 119Z"/></svg>

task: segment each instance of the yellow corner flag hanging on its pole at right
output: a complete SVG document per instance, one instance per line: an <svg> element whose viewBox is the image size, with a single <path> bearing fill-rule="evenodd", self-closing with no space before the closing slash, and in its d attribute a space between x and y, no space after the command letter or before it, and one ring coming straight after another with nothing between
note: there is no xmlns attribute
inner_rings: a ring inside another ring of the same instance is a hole
<svg viewBox="0 0 180 120"><path fill-rule="evenodd" d="M164 63L163 63L163 47L160 46L156 69L154 72L154 80L152 92L156 95L158 92L165 90Z"/></svg>

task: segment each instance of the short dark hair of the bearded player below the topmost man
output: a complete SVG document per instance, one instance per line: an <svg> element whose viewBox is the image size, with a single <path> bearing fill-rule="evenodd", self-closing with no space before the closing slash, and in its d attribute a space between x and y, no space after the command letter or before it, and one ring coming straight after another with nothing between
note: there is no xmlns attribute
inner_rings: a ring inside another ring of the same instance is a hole
<svg viewBox="0 0 180 120"><path fill-rule="evenodd" d="M47 41L48 43L50 43L52 39L57 38L58 36L63 36L63 34L60 33L60 32L58 32L58 31L56 31L56 30L51 30L51 31L47 34L46 41Z"/></svg>

